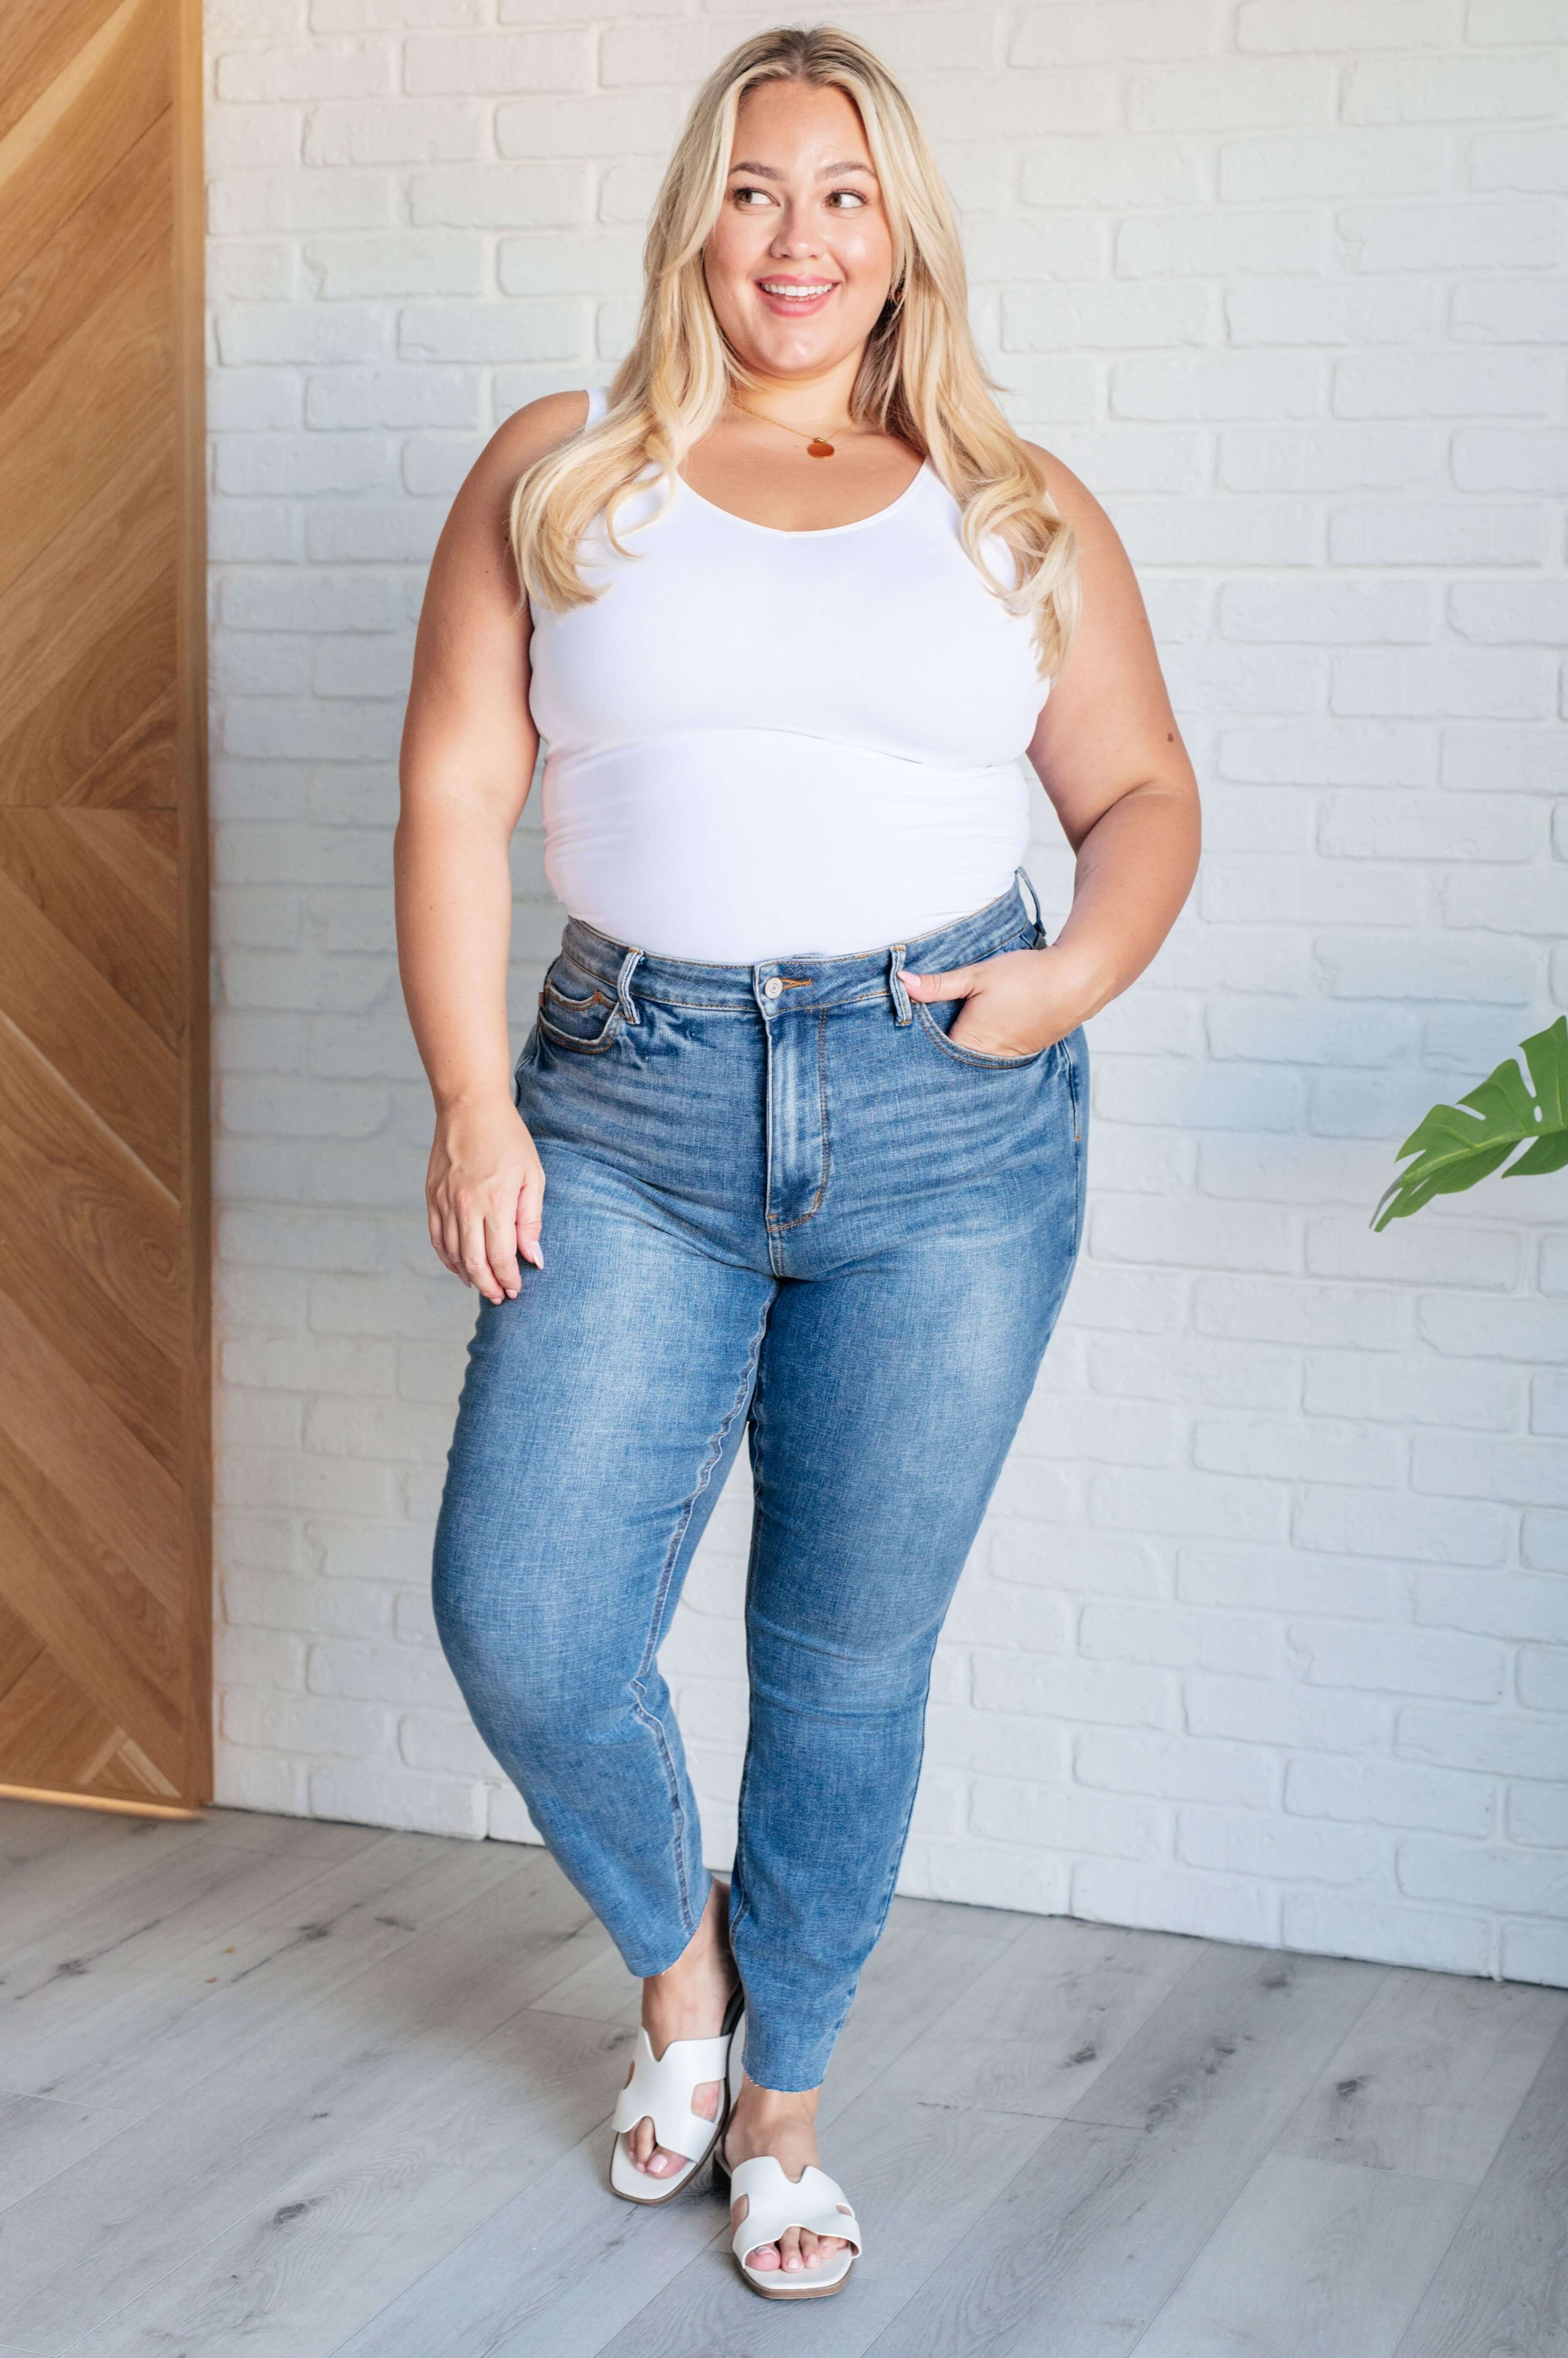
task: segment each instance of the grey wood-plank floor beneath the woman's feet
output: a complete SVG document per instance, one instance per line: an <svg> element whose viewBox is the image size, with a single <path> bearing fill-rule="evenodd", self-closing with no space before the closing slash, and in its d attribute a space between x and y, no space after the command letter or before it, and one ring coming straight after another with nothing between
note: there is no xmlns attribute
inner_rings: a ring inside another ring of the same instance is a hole
<svg viewBox="0 0 1568 2358"><path fill-rule="evenodd" d="M1563 2358L1568 1993L896 1901L759 2301L542 1851L0 1802L0 2358Z"/></svg>

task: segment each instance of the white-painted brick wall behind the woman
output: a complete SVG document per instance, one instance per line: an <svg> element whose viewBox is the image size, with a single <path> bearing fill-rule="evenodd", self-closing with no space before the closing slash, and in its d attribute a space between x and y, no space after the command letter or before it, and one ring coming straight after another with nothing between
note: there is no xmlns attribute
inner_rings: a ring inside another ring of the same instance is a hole
<svg viewBox="0 0 1568 2358"><path fill-rule="evenodd" d="M1568 1181L1365 1226L1568 1002L1568 17L839 14L941 141L1014 417L1127 538L1210 811L1094 1023L1087 1254L905 1889L1568 1983ZM608 377L693 78L769 17L207 0L226 1802L528 1835L427 1608L472 1295L420 1212L394 752L446 502ZM1061 910L1045 799L1035 875ZM556 931L531 811L519 1040ZM743 1493L667 1648L714 1860Z"/></svg>

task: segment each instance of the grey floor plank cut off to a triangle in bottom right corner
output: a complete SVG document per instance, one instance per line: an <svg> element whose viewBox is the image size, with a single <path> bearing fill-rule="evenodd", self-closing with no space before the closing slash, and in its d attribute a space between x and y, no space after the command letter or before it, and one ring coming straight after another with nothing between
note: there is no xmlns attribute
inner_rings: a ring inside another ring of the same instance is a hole
<svg viewBox="0 0 1568 2358"><path fill-rule="evenodd" d="M1518 2106L1396 2358L1568 2351L1568 2028Z"/></svg>

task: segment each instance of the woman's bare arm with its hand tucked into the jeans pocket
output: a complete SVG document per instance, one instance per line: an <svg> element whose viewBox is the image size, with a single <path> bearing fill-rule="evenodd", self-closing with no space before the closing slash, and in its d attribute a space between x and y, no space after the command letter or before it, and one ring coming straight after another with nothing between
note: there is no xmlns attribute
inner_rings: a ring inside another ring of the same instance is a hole
<svg viewBox="0 0 1568 2358"><path fill-rule="evenodd" d="M915 997L967 997L962 1047L1047 1047L1132 983L1170 934L1198 870L1198 780L1160 677L1144 599L1099 500L1040 450L1078 535L1082 620L1028 759L1078 854L1073 910L1049 950L915 976Z"/></svg>

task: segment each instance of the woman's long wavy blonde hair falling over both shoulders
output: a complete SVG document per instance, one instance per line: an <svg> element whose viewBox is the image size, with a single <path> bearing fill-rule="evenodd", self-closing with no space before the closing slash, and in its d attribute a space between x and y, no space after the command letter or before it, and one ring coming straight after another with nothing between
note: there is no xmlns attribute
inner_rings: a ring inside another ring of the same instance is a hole
<svg viewBox="0 0 1568 2358"><path fill-rule="evenodd" d="M835 26L755 33L703 83L653 205L644 248L637 342L615 370L606 415L528 467L512 495L509 531L519 582L564 611L599 592L578 573L578 545L604 509L615 512L648 462L663 469L665 502L691 446L724 413L733 384L750 384L714 318L703 274L736 139L740 99L757 83L842 90L865 125L894 238L891 292L865 342L851 417L920 450L962 512L962 540L986 585L1035 618L1040 674L1061 670L1078 623L1078 552L1045 469L1002 417L974 347L957 222L915 111L887 66ZM1002 542L1012 580L1000 580L983 542Z"/></svg>

